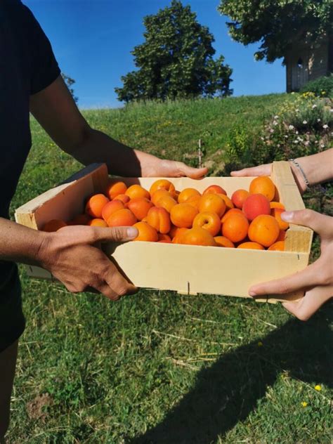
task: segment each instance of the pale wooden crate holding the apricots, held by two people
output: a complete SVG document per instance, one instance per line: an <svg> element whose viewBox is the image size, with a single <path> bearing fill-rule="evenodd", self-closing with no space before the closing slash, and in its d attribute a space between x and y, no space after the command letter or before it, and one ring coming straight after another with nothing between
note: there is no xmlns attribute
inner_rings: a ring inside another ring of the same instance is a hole
<svg viewBox="0 0 333 444"><path fill-rule="evenodd" d="M304 204L288 162L274 162L272 179L278 188L280 202L287 210L303 209ZM105 164L93 164L79 171L65 183L22 205L15 212L18 223L36 230L44 223L60 218L69 221L84 211L86 199L103 192L107 183ZM140 183L149 190L157 178L122 178L126 184ZM212 184L221 185L230 196L238 188L249 188L251 177L207 177L200 181L190 178L169 178L176 189L192 187L202 192ZM225 294L248 296L251 285L303 270L308 264L313 232L309 228L290 226L286 251L263 251L195 245L126 242L105 244L105 253L117 261L125 275L138 287L175 290L181 294ZM48 271L27 266L34 278L52 276ZM263 301L296 300L301 292Z"/></svg>

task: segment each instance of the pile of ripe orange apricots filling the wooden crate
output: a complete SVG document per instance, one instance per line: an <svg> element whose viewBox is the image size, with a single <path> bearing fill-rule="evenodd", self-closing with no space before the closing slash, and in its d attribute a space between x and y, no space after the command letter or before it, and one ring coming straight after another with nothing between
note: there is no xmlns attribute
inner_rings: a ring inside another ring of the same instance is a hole
<svg viewBox="0 0 333 444"><path fill-rule="evenodd" d="M67 223L53 219L43 229L134 226L135 241L284 251L289 225L282 221L285 208L277 196L268 176L254 178L249 190L230 197L219 185L201 194L195 188L177 191L167 179L155 181L149 191L110 181L104 194L89 198L84 214Z"/></svg>

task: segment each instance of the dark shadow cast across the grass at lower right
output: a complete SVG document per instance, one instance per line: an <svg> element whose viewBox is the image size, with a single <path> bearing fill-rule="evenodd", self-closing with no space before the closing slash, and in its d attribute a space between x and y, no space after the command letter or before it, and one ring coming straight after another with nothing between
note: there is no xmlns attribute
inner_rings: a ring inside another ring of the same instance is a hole
<svg viewBox="0 0 333 444"><path fill-rule="evenodd" d="M311 320L289 320L261 339L223 355L197 374L197 383L161 424L126 444L208 444L244 421L278 375L332 386L330 304ZM329 318L329 319L327 319Z"/></svg>

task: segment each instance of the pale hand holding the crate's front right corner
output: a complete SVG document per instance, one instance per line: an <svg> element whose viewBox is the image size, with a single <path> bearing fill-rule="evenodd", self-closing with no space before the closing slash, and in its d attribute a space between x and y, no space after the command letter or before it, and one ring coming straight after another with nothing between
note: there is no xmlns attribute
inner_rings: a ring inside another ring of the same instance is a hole
<svg viewBox="0 0 333 444"><path fill-rule="evenodd" d="M287 278L254 285L249 289L249 295L286 294L303 289L305 296L300 301L285 302L283 306L296 318L308 320L333 296L333 217L304 209L285 211L281 218L289 223L312 228L320 235L320 258L305 270Z"/></svg>

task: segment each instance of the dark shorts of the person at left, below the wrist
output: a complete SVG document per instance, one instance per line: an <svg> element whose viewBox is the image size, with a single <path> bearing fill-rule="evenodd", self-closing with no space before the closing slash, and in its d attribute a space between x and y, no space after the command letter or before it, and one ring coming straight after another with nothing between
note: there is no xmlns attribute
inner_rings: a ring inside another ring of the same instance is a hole
<svg viewBox="0 0 333 444"><path fill-rule="evenodd" d="M25 329L18 267L0 261L0 353L18 339Z"/></svg>

